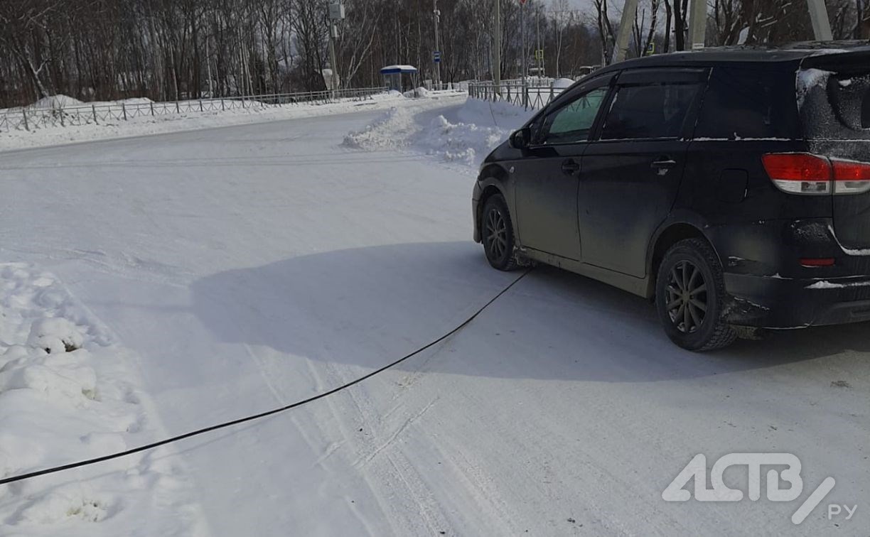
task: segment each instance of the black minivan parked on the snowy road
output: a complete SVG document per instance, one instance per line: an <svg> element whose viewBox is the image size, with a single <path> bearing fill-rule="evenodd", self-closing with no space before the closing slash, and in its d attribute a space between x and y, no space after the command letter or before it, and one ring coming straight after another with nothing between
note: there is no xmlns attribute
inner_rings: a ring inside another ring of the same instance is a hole
<svg viewBox="0 0 870 537"><path fill-rule="evenodd" d="M870 320L870 46L595 71L486 157L473 215L493 267L654 298L683 348Z"/></svg>

